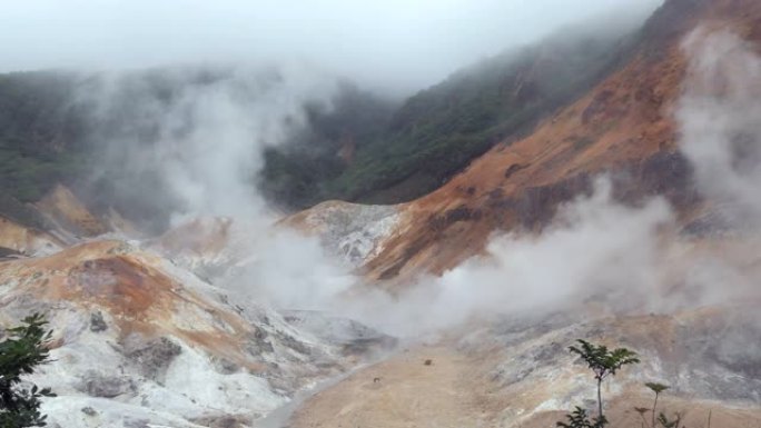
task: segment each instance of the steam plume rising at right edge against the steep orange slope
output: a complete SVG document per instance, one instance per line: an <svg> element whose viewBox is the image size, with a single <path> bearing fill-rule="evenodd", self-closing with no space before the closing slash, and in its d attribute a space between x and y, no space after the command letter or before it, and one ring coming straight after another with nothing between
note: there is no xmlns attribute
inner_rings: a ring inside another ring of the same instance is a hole
<svg viewBox="0 0 761 428"><path fill-rule="evenodd" d="M735 227L761 215L761 58L738 36L700 29L684 42L686 92L676 110L682 151L703 195Z"/></svg>

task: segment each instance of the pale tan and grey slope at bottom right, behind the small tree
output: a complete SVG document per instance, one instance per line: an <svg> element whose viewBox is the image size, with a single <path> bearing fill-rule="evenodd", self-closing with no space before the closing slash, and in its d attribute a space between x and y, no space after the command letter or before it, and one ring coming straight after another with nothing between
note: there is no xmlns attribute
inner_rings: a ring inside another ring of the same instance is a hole
<svg viewBox="0 0 761 428"><path fill-rule="evenodd" d="M651 379L671 385L661 409L686 410L688 426L705 426L711 411L713 426L744 427L761 417L759 397L749 392L758 389L759 380L753 369L745 371L758 361L730 356L730 338L712 340L740 320L759 334L750 306L586 324L560 317L504 319L483 330L470 326L468 332L461 331L463 338L452 335L436 345L414 347L354 374L308 400L291 426L552 426L565 410L594 400L592 375L574 364L564 344L604 336L625 338L616 345L641 351L643 360L605 387L616 427L641 427L633 407L652 405L643 386Z"/></svg>

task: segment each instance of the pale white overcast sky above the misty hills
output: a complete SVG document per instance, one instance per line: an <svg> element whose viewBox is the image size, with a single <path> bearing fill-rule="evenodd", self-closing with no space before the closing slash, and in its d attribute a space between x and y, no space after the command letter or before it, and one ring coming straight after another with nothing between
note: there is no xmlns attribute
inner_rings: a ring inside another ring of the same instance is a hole
<svg viewBox="0 0 761 428"><path fill-rule="evenodd" d="M307 60L414 90L560 27L663 0L0 0L0 71Z"/></svg>

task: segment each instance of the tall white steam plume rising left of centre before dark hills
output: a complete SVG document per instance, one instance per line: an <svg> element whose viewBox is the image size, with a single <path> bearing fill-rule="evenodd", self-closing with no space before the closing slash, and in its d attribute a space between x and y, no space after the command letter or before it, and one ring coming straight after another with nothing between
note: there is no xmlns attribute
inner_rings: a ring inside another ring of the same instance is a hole
<svg viewBox="0 0 761 428"><path fill-rule="evenodd" d="M330 108L338 79L303 63L157 76L110 73L82 86L78 102L92 111L103 153L92 180L125 193L140 177L156 177L154 188L127 200L170 207L170 229L179 230L172 239L184 250L202 255L226 240L237 265L211 275L215 283L278 308L326 308L356 278L316 238L276 227L281 215L254 181L266 148L304 130L308 108Z"/></svg>

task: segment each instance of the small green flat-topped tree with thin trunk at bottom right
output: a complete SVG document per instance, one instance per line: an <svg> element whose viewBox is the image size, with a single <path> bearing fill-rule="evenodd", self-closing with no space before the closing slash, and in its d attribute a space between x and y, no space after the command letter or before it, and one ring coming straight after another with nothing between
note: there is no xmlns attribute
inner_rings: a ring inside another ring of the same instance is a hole
<svg viewBox="0 0 761 428"><path fill-rule="evenodd" d="M597 419L605 421L602 401L602 381L607 376L615 376L623 366L640 362L636 352L626 348L609 350L604 345L592 345L586 340L579 339L581 347L569 347L572 354L577 354L594 371L594 379L597 381Z"/></svg>

